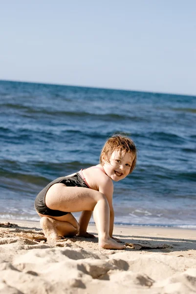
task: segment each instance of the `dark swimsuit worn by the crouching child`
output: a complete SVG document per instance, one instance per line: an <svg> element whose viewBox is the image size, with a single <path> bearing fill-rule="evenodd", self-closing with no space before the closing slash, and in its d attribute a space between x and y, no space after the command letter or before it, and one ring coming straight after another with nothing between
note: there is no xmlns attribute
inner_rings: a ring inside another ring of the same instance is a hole
<svg viewBox="0 0 196 294"><path fill-rule="evenodd" d="M35 209L37 212L43 215L51 216L51 217L62 217L65 216L68 212L61 210L50 209L45 204L45 196L49 188L57 183L63 183L67 187L83 187L90 188L83 176L82 171L76 172L71 176L63 176L59 177L56 180L50 182L36 197L35 199Z"/></svg>

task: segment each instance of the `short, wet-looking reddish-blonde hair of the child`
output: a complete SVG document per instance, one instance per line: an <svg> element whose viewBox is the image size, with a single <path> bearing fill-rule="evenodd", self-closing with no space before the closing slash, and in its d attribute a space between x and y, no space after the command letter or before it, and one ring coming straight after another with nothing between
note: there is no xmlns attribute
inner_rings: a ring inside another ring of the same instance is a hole
<svg viewBox="0 0 196 294"><path fill-rule="evenodd" d="M128 152L131 155L132 164L130 168L130 173L134 170L137 161L137 148L133 141L122 135L114 135L108 139L106 144L104 145L101 155L100 155L100 163L104 165L105 161L110 162L111 154L114 151Z"/></svg>

